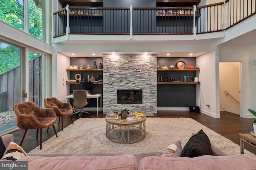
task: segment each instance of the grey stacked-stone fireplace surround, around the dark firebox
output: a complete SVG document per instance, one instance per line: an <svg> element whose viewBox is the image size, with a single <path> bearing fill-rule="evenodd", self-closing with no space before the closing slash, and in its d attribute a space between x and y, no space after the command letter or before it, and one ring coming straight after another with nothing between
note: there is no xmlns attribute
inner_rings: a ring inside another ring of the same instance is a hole
<svg viewBox="0 0 256 170"><path fill-rule="evenodd" d="M103 66L103 114L157 112L156 54L104 54ZM142 89L142 104L117 104L118 89Z"/></svg>

